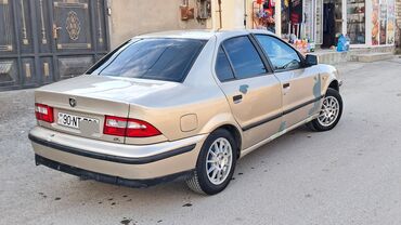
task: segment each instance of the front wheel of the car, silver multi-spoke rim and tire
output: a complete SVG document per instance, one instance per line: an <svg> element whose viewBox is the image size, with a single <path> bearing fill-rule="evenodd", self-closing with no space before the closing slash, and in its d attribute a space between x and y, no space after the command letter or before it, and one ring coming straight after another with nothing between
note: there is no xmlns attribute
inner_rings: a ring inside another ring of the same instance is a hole
<svg viewBox="0 0 401 225"><path fill-rule="evenodd" d="M325 110L326 109L326 110ZM323 98L322 108L319 117L307 127L312 131L329 131L337 125L342 115L342 98L338 91L328 88Z"/></svg>

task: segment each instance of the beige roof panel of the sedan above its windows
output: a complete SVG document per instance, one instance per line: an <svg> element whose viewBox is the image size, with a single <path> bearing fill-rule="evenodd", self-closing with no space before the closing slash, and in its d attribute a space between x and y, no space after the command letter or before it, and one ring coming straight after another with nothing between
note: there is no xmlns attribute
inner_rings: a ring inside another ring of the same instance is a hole
<svg viewBox="0 0 401 225"><path fill-rule="evenodd" d="M161 32L151 32L145 35L135 36L134 38L185 38L185 39L198 39L209 40L211 37L225 37L225 36L241 36L248 34L268 34L274 35L263 29L190 29L190 30L169 30Z"/></svg>

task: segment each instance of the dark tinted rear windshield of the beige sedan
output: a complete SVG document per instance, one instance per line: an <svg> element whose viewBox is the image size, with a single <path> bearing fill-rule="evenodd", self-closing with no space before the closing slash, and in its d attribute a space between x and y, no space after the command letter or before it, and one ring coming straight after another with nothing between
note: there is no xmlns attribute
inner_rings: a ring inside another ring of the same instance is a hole
<svg viewBox="0 0 401 225"><path fill-rule="evenodd" d="M135 39L96 63L87 74L181 82L206 41Z"/></svg>

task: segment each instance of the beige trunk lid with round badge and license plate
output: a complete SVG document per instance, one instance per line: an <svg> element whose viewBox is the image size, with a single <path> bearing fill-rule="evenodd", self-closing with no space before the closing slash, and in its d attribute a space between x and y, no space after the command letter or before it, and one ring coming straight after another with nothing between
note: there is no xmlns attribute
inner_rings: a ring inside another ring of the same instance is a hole
<svg viewBox="0 0 401 225"><path fill-rule="evenodd" d="M35 101L53 108L54 122L39 125L82 137L125 143L124 136L103 133L105 116L127 118L130 103L141 91L157 89L163 81L89 76L42 87Z"/></svg>

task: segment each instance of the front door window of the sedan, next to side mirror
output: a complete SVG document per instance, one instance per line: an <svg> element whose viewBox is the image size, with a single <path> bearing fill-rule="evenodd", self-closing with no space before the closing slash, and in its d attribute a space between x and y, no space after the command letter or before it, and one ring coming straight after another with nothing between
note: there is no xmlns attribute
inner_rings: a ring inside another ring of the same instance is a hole
<svg viewBox="0 0 401 225"><path fill-rule="evenodd" d="M256 35L256 39L263 48L266 54L268 54L275 71L301 67L301 59L298 53L282 40L266 35Z"/></svg>

